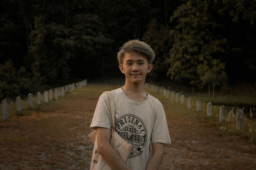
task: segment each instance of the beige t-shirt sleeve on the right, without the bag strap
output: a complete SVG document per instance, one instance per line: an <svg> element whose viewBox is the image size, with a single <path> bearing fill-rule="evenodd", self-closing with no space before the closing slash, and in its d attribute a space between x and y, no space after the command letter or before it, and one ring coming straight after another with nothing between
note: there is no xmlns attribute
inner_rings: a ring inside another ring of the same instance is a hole
<svg viewBox="0 0 256 170"><path fill-rule="evenodd" d="M164 108L161 103L159 104L159 106L157 106L156 118L154 122L151 140L152 143L171 143L166 115L164 113Z"/></svg>

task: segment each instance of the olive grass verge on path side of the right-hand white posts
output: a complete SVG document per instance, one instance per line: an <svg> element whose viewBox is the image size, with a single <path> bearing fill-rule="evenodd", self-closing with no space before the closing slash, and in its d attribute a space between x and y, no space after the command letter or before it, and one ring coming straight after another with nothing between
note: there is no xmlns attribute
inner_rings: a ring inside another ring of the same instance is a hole
<svg viewBox="0 0 256 170"><path fill-rule="evenodd" d="M163 94L159 94L155 90L147 89L147 92L157 97L157 99L161 101L164 106L164 111L166 112L166 115L171 115L172 117L192 119L195 122L204 124L205 127L212 127L214 129L218 129L219 133L217 135L220 137L227 132L229 134L239 135L243 138L248 139L252 143L256 143L256 122L243 116L243 124L241 130L237 131L236 113L230 114L229 117L229 112L232 110L231 107L225 108L225 123L220 123L220 106L212 105L212 115L208 117L207 103L204 102L206 100L202 99L201 97L191 97L192 107L188 108L189 97L185 97L184 104L180 104L180 101L179 103L176 103L175 101L172 102L170 97L165 97L163 96ZM216 97L215 99L220 101L218 97ZM237 97L237 99L234 99L234 101L238 99L239 97ZM250 99L250 97L246 98L245 96L241 99ZM196 101L201 101L200 111L196 111Z"/></svg>

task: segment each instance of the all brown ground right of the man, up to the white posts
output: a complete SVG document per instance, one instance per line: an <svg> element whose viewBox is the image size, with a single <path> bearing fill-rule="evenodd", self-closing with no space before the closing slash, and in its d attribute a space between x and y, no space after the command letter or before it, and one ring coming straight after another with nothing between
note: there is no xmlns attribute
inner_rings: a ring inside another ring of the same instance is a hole
<svg viewBox="0 0 256 170"><path fill-rule="evenodd" d="M256 145L244 137L245 125L239 133L222 131L223 124L218 124L220 108L212 108L212 117L207 117L206 110L195 111L196 101L188 109L186 102L172 103L170 98L148 92L163 103L172 139L172 144L165 146L161 169L256 168ZM202 108L206 108L205 103Z"/></svg>

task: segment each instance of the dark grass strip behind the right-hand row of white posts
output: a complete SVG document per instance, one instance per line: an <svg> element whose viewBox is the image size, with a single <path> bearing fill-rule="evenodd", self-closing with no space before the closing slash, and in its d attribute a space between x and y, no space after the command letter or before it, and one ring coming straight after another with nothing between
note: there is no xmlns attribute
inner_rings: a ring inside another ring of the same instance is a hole
<svg viewBox="0 0 256 170"><path fill-rule="evenodd" d="M195 100L203 101L205 103L211 102L214 105L224 105L228 107L240 108L256 108L256 83L237 83L230 87L227 94L221 93L220 89L215 90L215 96L208 97L208 90L200 90L193 92L192 87L186 87L172 81L161 81L156 83L149 81L150 84L170 89L174 92L179 92L185 96L191 96Z"/></svg>

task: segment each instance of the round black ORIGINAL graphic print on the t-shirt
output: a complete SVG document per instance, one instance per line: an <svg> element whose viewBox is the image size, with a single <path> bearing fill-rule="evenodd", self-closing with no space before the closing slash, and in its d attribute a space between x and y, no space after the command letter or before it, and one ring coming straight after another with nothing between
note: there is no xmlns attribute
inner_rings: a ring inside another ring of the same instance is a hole
<svg viewBox="0 0 256 170"><path fill-rule="evenodd" d="M137 157L143 153L147 141L147 129L139 117L127 114L118 118L115 131L132 145L129 158Z"/></svg>

